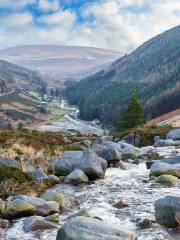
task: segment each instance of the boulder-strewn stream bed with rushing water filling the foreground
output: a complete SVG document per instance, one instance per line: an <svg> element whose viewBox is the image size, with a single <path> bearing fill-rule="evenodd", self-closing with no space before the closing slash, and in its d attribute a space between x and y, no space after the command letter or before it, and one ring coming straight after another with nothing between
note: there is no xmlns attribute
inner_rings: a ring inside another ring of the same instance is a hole
<svg viewBox="0 0 180 240"><path fill-rule="evenodd" d="M174 145L159 147L156 137L154 146L138 148L103 136L85 141L82 150L51 159L46 173L26 169L36 184L51 181L51 187L36 197L16 194L1 199L0 236L5 240L179 239L174 230L180 212L179 130L167 138ZM21 168L13 159L1 159L0 165L5 161L6 166Z"/></svg>

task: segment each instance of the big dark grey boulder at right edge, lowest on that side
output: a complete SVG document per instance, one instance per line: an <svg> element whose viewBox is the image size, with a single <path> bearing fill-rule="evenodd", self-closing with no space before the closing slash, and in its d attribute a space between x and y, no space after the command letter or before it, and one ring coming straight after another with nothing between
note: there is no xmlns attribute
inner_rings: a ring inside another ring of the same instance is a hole
<svg viewBox="0 0 180 240"><path fill-rule="evenodd" d="M155 202L156 221L167 228L178 226L176 220L178 212L180 212L180 197L166 196Z"/></svg>

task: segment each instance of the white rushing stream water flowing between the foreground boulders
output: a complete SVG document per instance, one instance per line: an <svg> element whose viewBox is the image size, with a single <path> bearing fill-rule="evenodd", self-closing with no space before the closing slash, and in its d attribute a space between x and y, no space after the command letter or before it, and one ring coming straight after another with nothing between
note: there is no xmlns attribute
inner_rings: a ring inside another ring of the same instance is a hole
<svg viewBox="0 0 180 240"><path fill-rule="evenodd" d="M180 154L180 150L173 147L159 148L161 155ZM131 230L138 235L139 240L171 240L180 239L180 234L167 232L158 224L152 228L141 230L138 221L148 218L154 219L154 201L168 194L178 195L180 183L169 187L149 182L149 170L145 163L139 165L127 163L127 169L109 168L103 180L97 180L86 186L69 184L56 185L54 189L63 193L73 203L73 207L61 215L61 224L79 209L87 209L92 215L124 229ZM123 200L128 207L117 209L114 203ZM59 225L60 226L60 225ZM23 219L12 223L12 227L2 233L4 240L55 240L57 230L36 233L24 233ZM173 235L174 234L174 235Z"/></svg>

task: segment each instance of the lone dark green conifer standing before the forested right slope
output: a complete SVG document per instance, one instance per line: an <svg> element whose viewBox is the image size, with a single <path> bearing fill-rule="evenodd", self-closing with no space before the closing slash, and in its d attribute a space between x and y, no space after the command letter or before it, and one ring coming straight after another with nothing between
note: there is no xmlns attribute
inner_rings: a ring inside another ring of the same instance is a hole
<svg viewBox="0 0 180 240"><path fill-rule="evenodd" d="M137 91L133 89L127 110L121 117L120 130L131 129L145 123L145 116L141 103L137 97Z"/></svg>

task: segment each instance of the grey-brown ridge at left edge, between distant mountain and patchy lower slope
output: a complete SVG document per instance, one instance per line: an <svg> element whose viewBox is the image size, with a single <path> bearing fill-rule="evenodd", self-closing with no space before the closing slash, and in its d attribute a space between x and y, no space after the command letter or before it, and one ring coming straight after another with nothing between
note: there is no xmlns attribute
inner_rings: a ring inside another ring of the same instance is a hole
<svg viewBox="0 0 180 240"><path fill-rule="evenodd" d="M17 87L41 90L46 87L46 83L37 71L0 60L0 94Z"/></svg>

